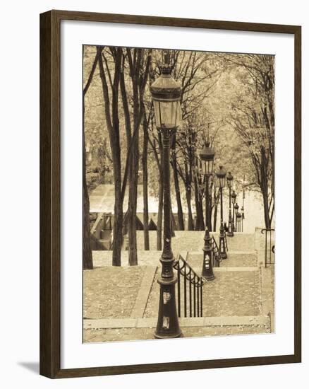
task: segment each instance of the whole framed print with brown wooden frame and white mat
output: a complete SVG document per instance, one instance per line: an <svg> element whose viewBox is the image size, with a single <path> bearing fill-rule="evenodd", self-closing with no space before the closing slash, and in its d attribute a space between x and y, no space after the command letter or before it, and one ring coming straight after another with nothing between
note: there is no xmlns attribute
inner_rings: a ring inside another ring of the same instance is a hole
<svg viewBox="0 0 309 389"><path fill-rule="evenodd" d="M40 373L300 362L301 27L40 36Z"/></svg>

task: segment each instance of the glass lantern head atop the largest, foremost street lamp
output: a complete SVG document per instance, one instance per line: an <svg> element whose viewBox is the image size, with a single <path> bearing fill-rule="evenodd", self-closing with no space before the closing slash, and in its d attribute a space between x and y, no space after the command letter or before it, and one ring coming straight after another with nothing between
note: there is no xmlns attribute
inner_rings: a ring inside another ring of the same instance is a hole
<svg viewBox="0 0 309 389"><path fill-rule="evenodd" d="M159 129L175 129L181 124L181 85L171 76L171 66L159 67L160 76L150 86L154 119Z"/></svg>

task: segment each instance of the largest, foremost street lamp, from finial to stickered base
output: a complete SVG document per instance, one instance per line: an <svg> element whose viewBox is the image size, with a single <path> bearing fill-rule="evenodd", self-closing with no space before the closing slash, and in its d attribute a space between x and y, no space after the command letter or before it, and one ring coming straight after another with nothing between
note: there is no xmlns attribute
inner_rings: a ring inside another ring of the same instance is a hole
<svg viewBox="0 0 309 389"><path fill-rule="evenodd" d="M171 250L171 211L170 211L170 173L169 173L169 143L171 133L176 131L181 121L181 86L171 76L168 55L164 56L164 64L159 67L160 76L150 86L154 105L154 118L158 131L162 135L162 166L163 166L163 209L164 231L163 251L160 262L162 272L158 283L160 286L159 313L157 329L154 337L179 337L181 329L176 310L174 275L174 255Z"/></svg>

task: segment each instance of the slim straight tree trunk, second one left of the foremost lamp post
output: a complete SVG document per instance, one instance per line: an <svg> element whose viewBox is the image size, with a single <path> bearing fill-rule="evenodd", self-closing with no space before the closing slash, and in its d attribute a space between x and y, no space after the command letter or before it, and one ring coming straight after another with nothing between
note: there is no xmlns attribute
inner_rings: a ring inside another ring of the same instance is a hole
<svg viewBox="0 0 309 389"><path fill-rule="evenodd" d="M149 247L149 216L148 216L148 172L147 172L147 156L148 156L148 129L147 129L147 120L144 115L143 119L143 129L144 129L144 142L143 142L143 202L144 202L144 249L150 250Z"/></svg>

